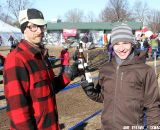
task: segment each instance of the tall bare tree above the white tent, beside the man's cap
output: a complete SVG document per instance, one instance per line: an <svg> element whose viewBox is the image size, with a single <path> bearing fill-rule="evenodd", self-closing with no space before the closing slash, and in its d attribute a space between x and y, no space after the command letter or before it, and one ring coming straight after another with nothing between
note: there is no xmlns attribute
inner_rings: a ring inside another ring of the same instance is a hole
<svg viewBox="0 0 160 130"><path fill-rule="evenodd" d="M7 6L10 13L18 20L19 11L31 7L29 0L7 0Z"/></svg>

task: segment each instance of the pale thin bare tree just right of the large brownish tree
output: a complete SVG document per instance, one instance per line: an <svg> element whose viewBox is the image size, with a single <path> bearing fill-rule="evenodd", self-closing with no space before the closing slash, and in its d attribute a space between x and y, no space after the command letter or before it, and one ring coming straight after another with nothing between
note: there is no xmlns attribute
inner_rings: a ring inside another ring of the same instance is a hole
<svg viewBox="0 0 160 130"><path fill-rule="evenodd" d="M133 5L133 16L143 25L146 22L147 14L149 13L149 7L147 3L142 3L141 1L135 1Z"/></svg>

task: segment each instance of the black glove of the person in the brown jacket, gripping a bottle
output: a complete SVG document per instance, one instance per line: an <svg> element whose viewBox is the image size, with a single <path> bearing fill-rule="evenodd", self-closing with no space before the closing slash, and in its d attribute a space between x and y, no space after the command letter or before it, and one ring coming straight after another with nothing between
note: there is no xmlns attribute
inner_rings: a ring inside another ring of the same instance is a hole
<svg viewBox="0 0 160 130"><path fill-rule="evenodd" d="M94 83L93 82L88 83L88 81L85 79L85 77L82 77L80 84L81 84L82 88L84 89L84 91L89 91L89 90L94 89Z"/></svg>

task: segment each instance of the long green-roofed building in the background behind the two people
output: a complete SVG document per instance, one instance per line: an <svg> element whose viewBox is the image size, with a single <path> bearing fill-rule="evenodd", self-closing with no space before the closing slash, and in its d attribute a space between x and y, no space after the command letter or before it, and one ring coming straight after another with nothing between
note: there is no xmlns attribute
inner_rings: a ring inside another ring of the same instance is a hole
<svg viewBox="0 0 160 130"><path fill-rule="evenodd" d="M122 22L48 22L47 23L47 40L49 44L61 45L63 43L79 42L84 35L88 36L89 42L94 44L106 44L112 28ZM141 22L125 22L132 29L142 29ZM106 39L107 38L107 39Z"/></svg>

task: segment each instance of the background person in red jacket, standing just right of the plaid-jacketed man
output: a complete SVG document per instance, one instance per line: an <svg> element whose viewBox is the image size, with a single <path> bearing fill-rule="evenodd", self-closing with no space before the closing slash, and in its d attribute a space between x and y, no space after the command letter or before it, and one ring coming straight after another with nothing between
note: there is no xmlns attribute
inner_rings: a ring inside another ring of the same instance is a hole
<svg viewBox="0 0 160 130"><path fill-rule="evenodd" d="M70 54L68 52L68 47L67 46L64 46L64 49L62 49L61 54L60 54L60 58L61 58L61 71L60 71L60 74L62 74L64 72L68 72L69 71Z"/></svg>

